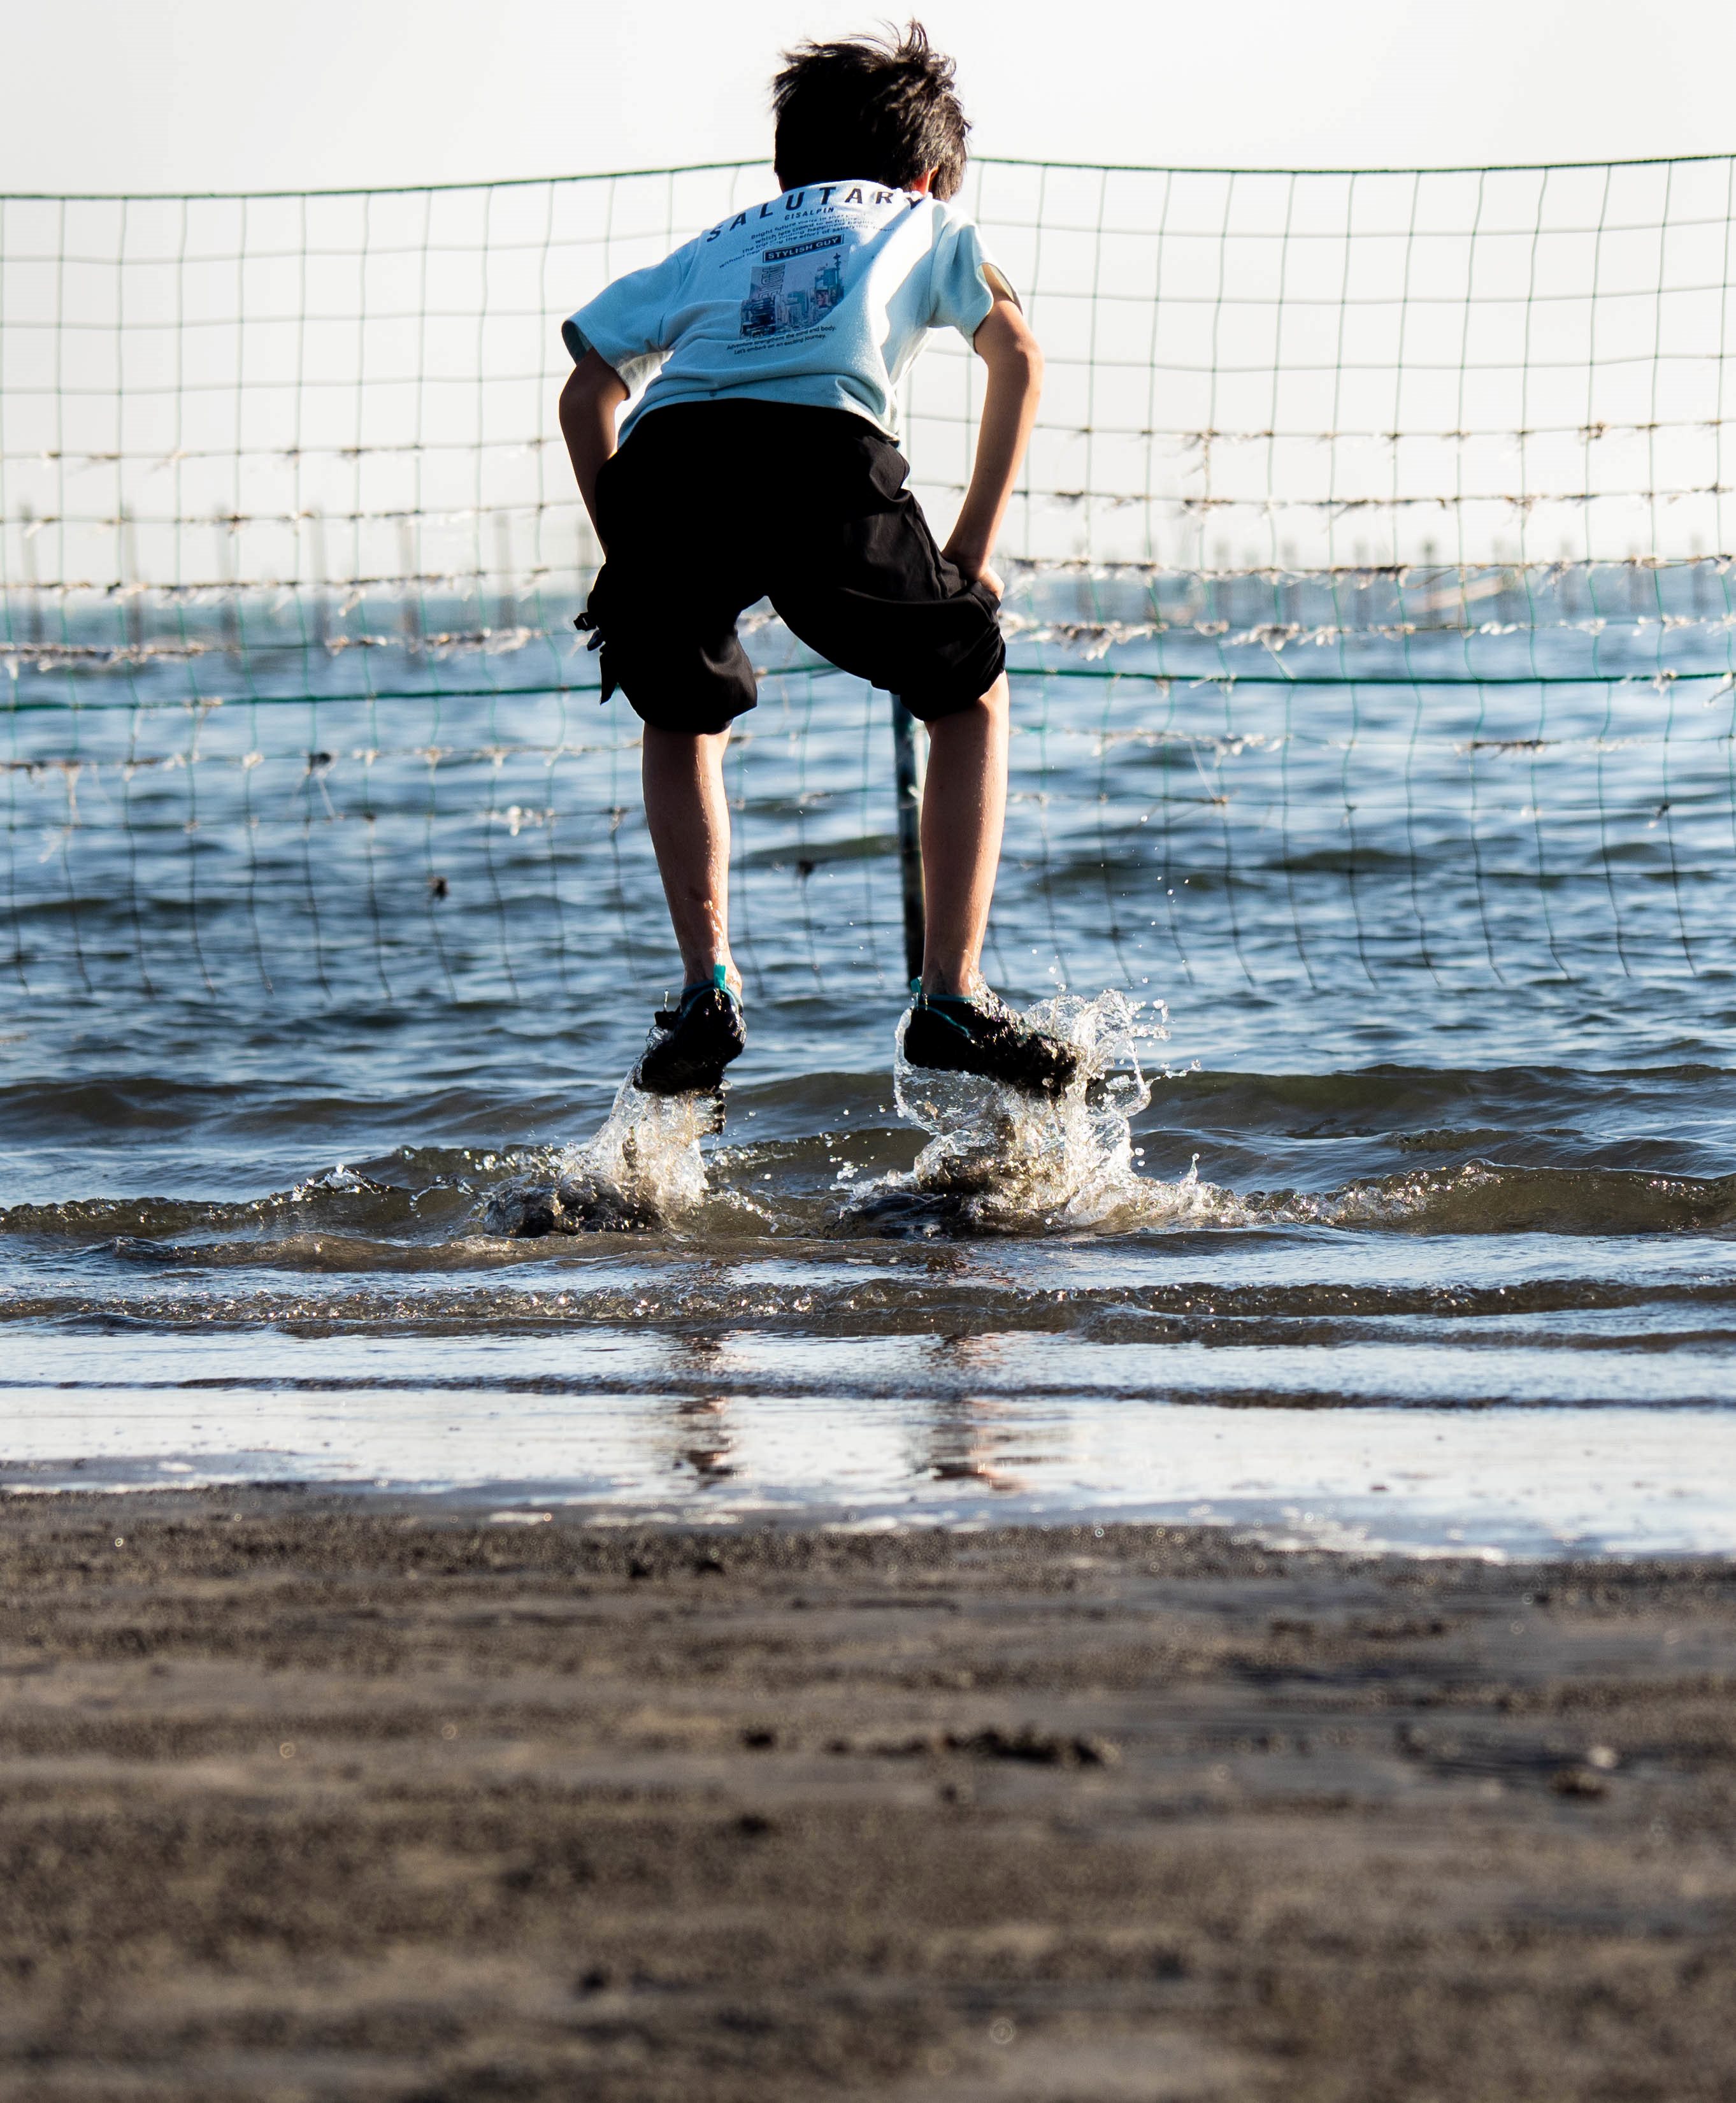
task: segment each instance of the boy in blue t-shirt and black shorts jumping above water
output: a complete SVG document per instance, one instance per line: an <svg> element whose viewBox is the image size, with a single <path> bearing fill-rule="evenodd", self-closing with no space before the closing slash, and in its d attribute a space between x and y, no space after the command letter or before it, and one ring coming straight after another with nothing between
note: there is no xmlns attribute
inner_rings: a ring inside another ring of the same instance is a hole
<svg viewBox="0 0 1736 2103"><path fill-rule="evenodd" d="M738 1058L723 749L755 707L736 616L769 595L843 671L929 728L927 946L904 1056L1059 1094L1076 1054L977 972L1007 805L1000 578L988 557L1036 421L1042 353L977 229L952 61L803 44L773 82L782 193L706 227L565 322L561 431L603 547L582 629L603 698L645 723L645 818L685 986L635 1083L715 1089ZM975 471L946 549L904 488L895 389L929 328L988 366ZM616 412L649 379L616 452Z"/></svg>

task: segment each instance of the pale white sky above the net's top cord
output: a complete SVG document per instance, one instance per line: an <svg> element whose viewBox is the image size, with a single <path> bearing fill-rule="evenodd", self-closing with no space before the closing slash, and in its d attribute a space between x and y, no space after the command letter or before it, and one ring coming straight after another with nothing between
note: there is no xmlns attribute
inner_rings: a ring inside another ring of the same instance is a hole
<svg viewBox="0 0 1736 2103"><path fill-rule="evenodd" d="M0 189L273 189L767 149L887 0L13 0ZM984 154L1414 166L1736 147L1730 0L931 0Z"/></svg>

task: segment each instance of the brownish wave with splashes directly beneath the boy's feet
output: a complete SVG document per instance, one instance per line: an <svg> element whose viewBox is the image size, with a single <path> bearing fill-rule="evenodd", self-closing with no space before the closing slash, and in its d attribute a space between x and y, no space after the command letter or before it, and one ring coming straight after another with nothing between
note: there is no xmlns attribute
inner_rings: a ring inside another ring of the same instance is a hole
<svg viewBox="0 0 1736 2103"><path fill-rule="evenodd" d="M918 1127L921 1150L908 1125L900 1131L891 1121L855 1117L847 1127L855 1163L841 1165L845 1148L832 1150L841 1134L809 1129L834 1110L841 1089L855 1096L843 1117L876 1108L881 1087L864 1087L855 1075L826 1077L826 1087L799 1102L794 1115L780 1098L771 1104L776 1138L746 1138L727 1150L706 1144L717 1129L710 1098L654 1098L622 1083L601 1127L578 1146L406 1146L261 1197L19 1203L0 1207L0 1247L15 1249L34 1279L36 1266L67 1251L147 1270L181 1264L420 1274L515 1264L530 1251L504 1241L551 1234L662 1234L689 1251L742 1251L818 1237L1124 1237L1177 1228L1404 1237L1736 1232L1736 1176L1503 1161L1492 1148L1469 1161L1429 1161L1448 1140L1501 1138L1494 1127L1469 1123L1419 1125L1400 1136L1406 1167L1324 1190L1246 1182L1229 1190L1200 1178L1198 1157L1185 1176L1162 1180L1143 1171L1133 1131L1154 1091L1141 1052L1162 1039L1162 1012L1139 1009L1116 993L1095 1001L1063 995L1032 1007L1030 1020L1080 1049L1084 1075L1059 1102L912 1068L900 1033L893 1091L902 1117ZM769 1100L761 1098L759 1115ZM755 1131L746 1123L742 1129ZM1404 1144L1410 1138L1427 1144ZM1173 1140L1169 1131L1162 1144ZM1244 1173L1251 1165L1246 1150L1225 1159ZM582 1251L570 1245L570 1253Z"/></svg>

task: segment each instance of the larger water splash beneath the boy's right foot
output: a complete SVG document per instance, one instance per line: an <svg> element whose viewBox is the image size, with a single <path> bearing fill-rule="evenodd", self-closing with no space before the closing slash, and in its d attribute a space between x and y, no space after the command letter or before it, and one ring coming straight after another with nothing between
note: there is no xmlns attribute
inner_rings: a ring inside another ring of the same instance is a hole
<svg viewBox="0 0 1736 2103"><path fill-rule="evenodd" d="M1133 1119L1152 1100L1139 1047L1169 1035L1160 1001L1061 993L1024 1020L1074 1045L1080 1073L1061 1098L1026 1096L973 1075L912 1066L897 1026L893 1098L929 1144L902 1176L847 1184L839 1224L891 1234L1129 1230L1213 1218L1234 1205L1190 1169L1179 1184L1141 1176Z"/></svg>

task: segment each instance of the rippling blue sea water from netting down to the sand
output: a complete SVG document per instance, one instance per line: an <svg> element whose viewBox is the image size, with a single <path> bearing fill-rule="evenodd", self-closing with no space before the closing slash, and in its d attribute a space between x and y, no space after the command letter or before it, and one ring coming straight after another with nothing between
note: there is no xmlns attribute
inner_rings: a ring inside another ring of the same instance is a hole
<svg viewBox="0 0 1736 2103"><path fill-rule="evenodd" d="M549 759L525 681L431 808L351 673L317 770L11 778L0 1483L1736 1550L1715 711L1570 795L1417 696L1026 671L986 963L1089 1081L1036 1104L904 1064L885 698L767 679L719 1123L624 1083L679 972L622 705Z"/></svg>

